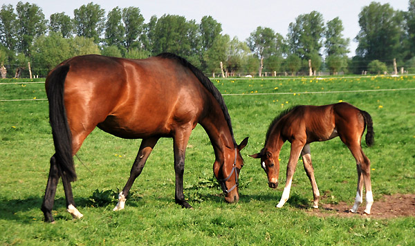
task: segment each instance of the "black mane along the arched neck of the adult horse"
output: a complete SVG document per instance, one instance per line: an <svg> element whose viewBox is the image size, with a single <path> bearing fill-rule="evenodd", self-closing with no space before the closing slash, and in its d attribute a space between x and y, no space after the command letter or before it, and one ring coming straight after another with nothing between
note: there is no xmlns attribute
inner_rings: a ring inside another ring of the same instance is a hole
<svg viewBox="0 0 415 246"><path fill-rule="evenodd" d="M225 116L225 120L226 120L226 122L228 122L228 127L229 127L229 131L230 131L230 135L232 135L232 140L234 142L234 145L237 146L237 142L234 139L234 134L233 134L233 130L232 130L232 124L230 122L230 115L228 113L228 107L226 107L226 104L223 101L222 94L213 85L213 83L210 81L210 79L208 77L206 77L201 72L201 70L199 70L198 68L196 68L195 66L193 66L192 64L190 64L190 62L187 61L186 59L184 59L183 57L179 57L178 55L175 55L173 53L161 53L160 55L157 55L157 56L158 57L167 58L167 59L174 59L174 60L178 61L180 64L182 64L183 66L185 66L186 68L189 68L192 71L192 73L194 73L194 75L203 84L203 86L205 86L205 88L207 88L208 91L210 91L210 93L212 93L212 95L214 96L214 98L216 99L216 101L219 102L219 105L221 105L221 108L222 108L222 111L223 111L223 115Z"/></svg>

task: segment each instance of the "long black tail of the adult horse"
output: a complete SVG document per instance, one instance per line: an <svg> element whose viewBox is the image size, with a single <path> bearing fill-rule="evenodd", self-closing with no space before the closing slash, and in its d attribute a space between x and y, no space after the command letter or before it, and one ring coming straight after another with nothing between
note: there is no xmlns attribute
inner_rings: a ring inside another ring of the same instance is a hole
<svg viewBox="0 0 415 246"><path fill-rule="evenodd" d="M64 83L69 66L59 66L48 76L49 120L55 144L55 158L59 173L69 181L76 180L72 157L72 134L64 105Z"/></svg>

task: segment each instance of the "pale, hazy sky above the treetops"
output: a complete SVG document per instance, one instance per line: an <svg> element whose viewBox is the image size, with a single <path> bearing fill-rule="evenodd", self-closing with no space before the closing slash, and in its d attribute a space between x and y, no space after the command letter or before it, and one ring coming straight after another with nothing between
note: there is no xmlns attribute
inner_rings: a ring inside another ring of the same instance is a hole
<svg viewBox="0 0 415 246"><path fill-rule="evenodd" d="M1 0L0 4L12 4L16 6L19 0ZM26 1L22 1L26 3ZM91 1L82 0L32 0L42 8L45 18L56 12L65 12L73 17L73 10L86 5ZM147 23L151 16L180 15L187 20L194 19L200 23L202 17L212 16L222 25L222 34L238 37L240 41L246 40L250 33L258 26L271 28L283 37L286 37L288 25L295 22L299 15L308 14L315 10L320 12L324 23L339 17L342 20L345 38L349 38L351 53L355 54L358 44L353 39L358 35L359 13L363 7L369 6L370 0L95 0L92 1L106 11L106 15L115 7L138 7ZM389 5L394 10L408 10L409 0L377 0L376 2Z"/></svg>

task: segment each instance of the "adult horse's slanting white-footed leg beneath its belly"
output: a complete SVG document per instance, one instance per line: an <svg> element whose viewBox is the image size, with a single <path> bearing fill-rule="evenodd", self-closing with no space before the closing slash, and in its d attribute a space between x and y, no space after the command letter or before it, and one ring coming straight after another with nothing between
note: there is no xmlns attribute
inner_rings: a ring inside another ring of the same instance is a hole
<svg viewBox="0 0 415 246"><path fill-rule="evenodd" d="M154 146L156 145L158 139L159 138L147 138L142 140L136 160L134 161L133 167L131 167L130 176L127 181L127 184L124 186L124 189L122 189L122 191L118 195L118 203L116 207L114 207L113 211L124 209L125 201L127 200L129 190L133 186L134 180L136 180L136 178L140 176L140 173L144 168L145 162L147 161L147 158L149 158L149 155L151 151L154 149Z"/></svg>

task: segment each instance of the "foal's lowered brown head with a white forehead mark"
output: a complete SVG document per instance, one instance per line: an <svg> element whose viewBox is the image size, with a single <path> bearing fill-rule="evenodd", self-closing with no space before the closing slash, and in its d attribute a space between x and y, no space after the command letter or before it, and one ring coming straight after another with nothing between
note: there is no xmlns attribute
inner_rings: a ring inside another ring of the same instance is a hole
<svg viewBox="0 0 415 246"><path fill-rule="evenodd" d="M268 185L270 188L278 187L279 178L279 160L278 155L273 155L267 149L262 149L261 152L250 155L252 158L261 159L261 167L268 176Z"/></svg>

